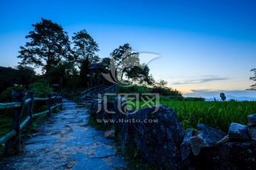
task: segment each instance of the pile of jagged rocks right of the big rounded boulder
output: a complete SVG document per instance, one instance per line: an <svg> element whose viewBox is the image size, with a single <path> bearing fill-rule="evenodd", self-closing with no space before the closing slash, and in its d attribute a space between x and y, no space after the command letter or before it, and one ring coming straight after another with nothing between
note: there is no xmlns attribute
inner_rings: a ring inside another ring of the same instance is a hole
<svg viewBox="0 0 256 170"><path fill-rule="evenodd" d="M206 125L199 124L197 132L187 130L181 145L183 169L256 169L256 141L250 134L250 128L255 128L254 116L248 115L247 127L231 123L228 135L218 142L222 132ZM216 140L206 142L216 134Z"/></svg>

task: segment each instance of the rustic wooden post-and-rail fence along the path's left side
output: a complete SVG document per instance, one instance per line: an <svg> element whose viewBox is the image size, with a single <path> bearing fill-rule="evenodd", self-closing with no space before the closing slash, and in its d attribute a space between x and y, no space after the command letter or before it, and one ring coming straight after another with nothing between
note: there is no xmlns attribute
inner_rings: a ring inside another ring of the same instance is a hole
<svg viewBox="0 0 256 170"><path fill-rule="evenodd" d="M11 132L4 135L0 139L0 146L5 145L4 154L9 154L11 151L19 152L21 150L21 130L33 125L33 118L46 114L50 117L52 111L57 112L57 107L62 109L62 95L61 94L48 94L46 98L36 98L34 92L31 91L14 91L12 94L13 102L0 103L0 109L13 108L13 123ZM53 100L53 106L51 106ZM48 101L47 110L41 113L33 114L34 101ZM28 111L26 119L21 123L21 115L23 110L28 104Z"/></svg>

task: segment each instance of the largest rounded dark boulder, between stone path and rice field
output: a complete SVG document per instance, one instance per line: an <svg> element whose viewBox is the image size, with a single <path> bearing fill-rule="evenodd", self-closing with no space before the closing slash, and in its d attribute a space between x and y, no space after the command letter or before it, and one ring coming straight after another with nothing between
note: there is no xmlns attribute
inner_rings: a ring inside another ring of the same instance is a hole
<svg viewBox="0 0 256 170"><path fill-rule="evenodd" d="M181 168L184 130L176 112L166 106L152 106L140 109L134 120L135 144L142 158L163 169Z"/></svg>

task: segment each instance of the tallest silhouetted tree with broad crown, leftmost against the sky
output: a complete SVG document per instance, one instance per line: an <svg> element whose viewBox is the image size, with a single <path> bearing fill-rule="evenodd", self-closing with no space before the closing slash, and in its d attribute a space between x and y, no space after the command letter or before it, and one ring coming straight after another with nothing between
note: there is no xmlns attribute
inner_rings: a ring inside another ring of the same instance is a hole
<svg viewBox="0 0 256 170"><path fill-rule="evenodd" d="M42 71L47 74L51 67L62 60L73 60L68 33L60 25L41 18L41 22L32 26L34 29L26 35L30 41L24 47L21 46L19 51L21 65L42 67Z"/></svg>

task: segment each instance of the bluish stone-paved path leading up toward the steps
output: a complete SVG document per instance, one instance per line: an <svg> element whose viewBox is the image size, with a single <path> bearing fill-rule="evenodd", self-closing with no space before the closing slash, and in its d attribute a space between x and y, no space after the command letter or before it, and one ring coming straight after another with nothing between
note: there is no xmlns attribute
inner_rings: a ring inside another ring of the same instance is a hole
<svg viewBox="0 0 256 170"><path fill-rule="evenodd" d="M126 162L117 155L113 140L87 125L86 108L76 108L63 99L63 111L37 128L24 140L24 152L0 160L0 169L123 169Z"/></svg>

